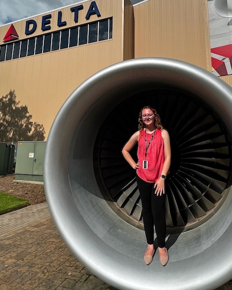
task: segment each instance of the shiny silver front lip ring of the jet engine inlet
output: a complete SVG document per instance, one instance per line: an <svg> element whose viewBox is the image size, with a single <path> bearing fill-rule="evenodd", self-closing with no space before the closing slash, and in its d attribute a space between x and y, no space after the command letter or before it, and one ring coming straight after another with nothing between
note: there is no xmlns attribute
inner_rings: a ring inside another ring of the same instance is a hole
<svg viewBox="0 0 232 290"><path fill-rule="evenodd" d="M232 88L218 77L197 66L173 59L143 58L115 64L84 81L66 100L53 122L44 157L48 207L61 237L73 254L92 273L118 289L184 290L186 285L189 290L215 289L231 279L232 259L228 252L232 240L231 194L210 220L183 233L183 237L194 239L193 246L199 251L192 252L192 255L186 251L181 259L170 260L166 266L168 271L155 268L155 261L149 269L145 268L142 259L124 255L112 244L103 241L97 235L97 229L90 225L95 221L88 220L75 200L74 190L81 191L82 188L71 184L69 160L73 153L73 135L79 130L77 127L81 125L84 115L97 104L103 106L108 102L113 108L125 99L125 96L122 99L119 96L115 100L115 94L120 91L132 95L139 87L152 88L156 84L192 92L221 116L227 132L232 136ZM91 112L94 114L94 110ZM113 213L111 215L114 216ZM220 249L223 248L220 259L215 255L219 245ZM139 253L143 250L139 248ZM169 251L172 256L171 248ZM188 248L188 251L193 249ZM202 262L202 257L209 258ZM185 282L180 279L183 276Z"/></svg>

